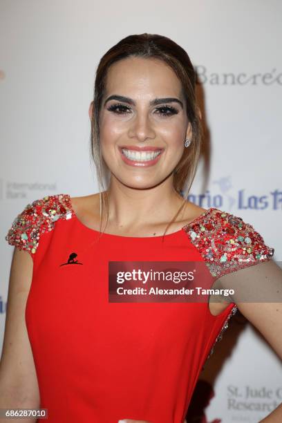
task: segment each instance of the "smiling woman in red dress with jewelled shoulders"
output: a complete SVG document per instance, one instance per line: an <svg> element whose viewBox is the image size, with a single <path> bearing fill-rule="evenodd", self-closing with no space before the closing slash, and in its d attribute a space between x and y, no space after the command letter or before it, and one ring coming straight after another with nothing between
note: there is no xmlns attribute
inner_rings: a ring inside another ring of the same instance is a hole
<svg viewBox="0 0 282 423"><path fill-rule="evenodd" d="M282 357L281 298L239 301L254 283L281 291L274 249L240 217L185 200L202 139L195 87L185 50L160 35L126 37L100 60L89 108L100 193L35 200L6 236L17 249L1 407L40 404L49 423L183 423L237 308ZM167 261L202 263L211 277L198 283L234 296L117 299L116 262Z"/></svg>

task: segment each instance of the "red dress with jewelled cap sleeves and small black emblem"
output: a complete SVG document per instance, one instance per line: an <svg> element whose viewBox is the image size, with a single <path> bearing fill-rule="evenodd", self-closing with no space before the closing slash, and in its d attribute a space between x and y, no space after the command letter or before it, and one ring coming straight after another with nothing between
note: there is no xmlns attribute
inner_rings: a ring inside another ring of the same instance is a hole
<svg viewBox="0 0 282 423"><path fill-rule="evenodd" d="M40 406L48 423L182 423L236 304L214 316L207 302L111 303L109 261L203 261L217 279L274 249L214 207L164 243L111 234L97 243L98 234L78 220L68 194L56 194L28 204L6 235L33 260L26 326Z"/></svg>

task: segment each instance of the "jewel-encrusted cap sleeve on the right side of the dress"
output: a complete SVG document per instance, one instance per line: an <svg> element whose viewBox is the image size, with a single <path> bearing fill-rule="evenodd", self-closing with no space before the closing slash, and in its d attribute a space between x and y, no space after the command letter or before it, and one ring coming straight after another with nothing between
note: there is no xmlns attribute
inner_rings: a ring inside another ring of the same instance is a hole
<svg viewBox="0 0 282 423"><path fill-rule="evenodd" d="M212 276L270 260L274 248L240 216L212 207L184 227L191 243L207 262Z"/></svg>

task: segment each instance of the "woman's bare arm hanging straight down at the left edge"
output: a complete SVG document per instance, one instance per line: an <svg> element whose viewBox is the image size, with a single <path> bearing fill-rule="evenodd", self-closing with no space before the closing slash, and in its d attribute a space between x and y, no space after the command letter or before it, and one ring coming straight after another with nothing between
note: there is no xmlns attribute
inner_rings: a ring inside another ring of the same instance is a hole
<svg viewBox="0 0 282 423"><path fill-rule="evenodd" d="M0 408L39 408L39 387L28 332L26 300L32 281L32 258L14 249L10 268L5 332L0 361ZM26 423L35 422L25 419ZM10 419L1 420L10 422ZM13 422L22 422L22 419Z"/></svg>

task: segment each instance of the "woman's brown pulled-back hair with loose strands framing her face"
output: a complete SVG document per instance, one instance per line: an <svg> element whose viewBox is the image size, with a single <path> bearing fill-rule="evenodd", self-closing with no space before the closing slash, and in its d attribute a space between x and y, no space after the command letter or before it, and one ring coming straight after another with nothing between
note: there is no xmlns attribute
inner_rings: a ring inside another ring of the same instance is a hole
<svg viewBox="0 0 282 423"><path fill-rule="evenodd" d="M182 196L187 196L194 180L200 149L203 138L203 129L200 122L199 107L196 101L196 73L186 51L168 37L157 34L129 35L111 47L102 57L97 66L94 87L93 114L91 116L91 157L96 167L97 180L100 185L100 232L102 225L102 210L106 208L106 222L109 218L108 197L104 191L109 169L102 158L100 149L99 117L102 99L106 88L106 75L109 67L127 57L144 57L160 59L168 64L176 73L182 84L182 93L186 101L187 118L192 126L192 138L189 148L185 151L173 172L173 187ZM183 140L184 142L184 140ZM102 196L102 198L101 198ZM185 205L185 203L183 203ZM182 205L182 206L183 206ZM180 209L182 209L182 206ZM178 216L180 209L173 220ZM167 226L167 228L169 227ZM164 234L167 232L165 230Z"/></svg>

